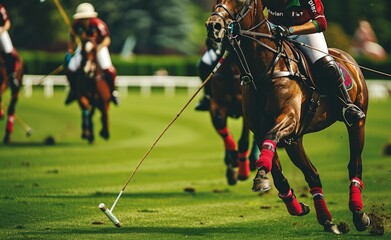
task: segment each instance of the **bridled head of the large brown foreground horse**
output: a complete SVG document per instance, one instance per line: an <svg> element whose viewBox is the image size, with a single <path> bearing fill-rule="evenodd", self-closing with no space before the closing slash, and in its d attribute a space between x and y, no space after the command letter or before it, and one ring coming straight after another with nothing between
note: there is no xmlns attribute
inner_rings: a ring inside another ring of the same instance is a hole
<svg viewBox="0 0 391 240"><path fill-rule="evenodd" d="M236 30L232 29L231 23L240 23L247 15L255 15L257 4L258 0L218 0L212 16L205 23L208 38L221 42L227 31ZM250 10L254 14L249 14Z"/></svg>

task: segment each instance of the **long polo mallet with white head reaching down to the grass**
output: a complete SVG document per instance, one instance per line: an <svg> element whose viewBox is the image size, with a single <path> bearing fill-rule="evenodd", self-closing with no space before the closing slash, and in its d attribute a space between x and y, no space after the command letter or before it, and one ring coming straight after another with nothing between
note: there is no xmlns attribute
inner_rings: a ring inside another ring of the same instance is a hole
<svg viewBox="0 0 391 240"><path fill-rule="evenodd" d="M129 182L132 180L133 176L136 174L137 170L140 168L140 166L144 162L144 160L148 157L149 153L152 151L152 149L155 147L155 145L159 142L159 140L163 137L163 135L171 127L171 125L179 118L179 116L182 114L182 112L189 106L190 102L197 96L197 94L201 91L201 89L210 81L210 79L212 79L213 75L217 72L217 70L220 68L221 64L225 61L225 59L227 59L228 55L229 55L229 52L225 51L223 56L219 60L219 62L216 64L215 68L209 74L209 76L198 87L198 89L193 93L193 95L185 103L185 105L182 107L182 109L175 115L175 117L171 120L171 122L164 128L162 133L160 133L160 135L156 138L156 140L153 142L153 144L149 147L148 151L144 154L142 159L138 162L138 164L134 168L132 174L129 176L128 180L126 181L125 185L123 186L122 190L119 192L119 194L118 194L117 198L115 199L115 201L114 201L113 205L111 206L111 208L108 209L104 203L100 203L99 204L99 208L102 210L102 212L110 219L110 221L116 227L121 227L121 222L113 214L113 210L114 210L115 205L117 205L118 200L121 197L122 193L125 191L125 188L128 186Z"/></svg>

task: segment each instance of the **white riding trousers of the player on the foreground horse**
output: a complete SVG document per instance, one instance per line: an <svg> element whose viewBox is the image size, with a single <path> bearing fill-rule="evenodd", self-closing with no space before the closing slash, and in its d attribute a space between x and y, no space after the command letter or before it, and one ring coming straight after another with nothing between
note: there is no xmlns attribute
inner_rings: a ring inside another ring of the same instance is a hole
<svg viewBox="0 0 391 240"><path fill-rule="evenodd" d="M268 22L271 29L274 29L277 25ZM316 62L322 57L329 54L326 39L324 38L323 32L312 33L306 35L291 35L288 38L297 42L302 42L309 47L298 45L300 50L304 53L311 63ZM310 48L311 47L311 48Z"/></svg>

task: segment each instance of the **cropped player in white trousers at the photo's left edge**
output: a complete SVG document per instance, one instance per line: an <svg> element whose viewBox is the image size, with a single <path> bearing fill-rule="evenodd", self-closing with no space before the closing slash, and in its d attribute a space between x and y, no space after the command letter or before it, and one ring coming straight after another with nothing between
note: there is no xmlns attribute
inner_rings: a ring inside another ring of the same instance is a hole
<svg viewBox="0 0 391 240"><path fill-rule="evenodd" d="M8 30L11 27L10 19L8 18L5 7L0 4L0 49L4 53L4 61L7 68L7 74L10 76L11 83L17 83L14 81L16 77L16 69L18 68L20 61L18 53L16 52L11 38L8 34Z"/></svg>

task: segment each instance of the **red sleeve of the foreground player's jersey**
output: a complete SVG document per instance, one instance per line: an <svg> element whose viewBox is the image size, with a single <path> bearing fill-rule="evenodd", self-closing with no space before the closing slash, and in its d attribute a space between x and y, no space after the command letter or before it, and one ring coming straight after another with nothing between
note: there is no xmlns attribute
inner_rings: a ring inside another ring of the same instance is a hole
<svg viewBox="0 0 391 240"><path fill-rule="evenodd" d="M314 21L318 32L324 32L327 29L327 19L324 15L324 7L321 0L301 0L300 4L307 9Z"/></svg>

